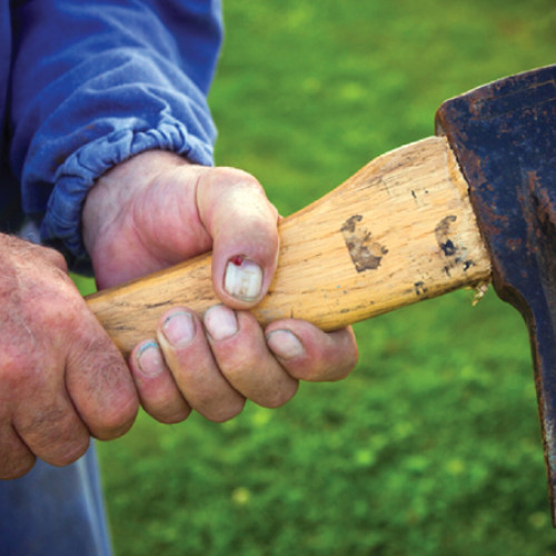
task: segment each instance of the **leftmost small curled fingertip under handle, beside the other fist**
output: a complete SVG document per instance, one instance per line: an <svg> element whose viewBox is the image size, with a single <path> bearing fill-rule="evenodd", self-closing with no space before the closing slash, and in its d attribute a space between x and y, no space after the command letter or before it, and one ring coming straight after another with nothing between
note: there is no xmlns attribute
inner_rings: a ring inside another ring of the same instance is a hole
<svg viewBox="0 0 556 556"><path fill-rule="evenodd" d="M139 344L130 356L130 367L143 409L160 423L181 423L191 413L155 340Z"/></svg>

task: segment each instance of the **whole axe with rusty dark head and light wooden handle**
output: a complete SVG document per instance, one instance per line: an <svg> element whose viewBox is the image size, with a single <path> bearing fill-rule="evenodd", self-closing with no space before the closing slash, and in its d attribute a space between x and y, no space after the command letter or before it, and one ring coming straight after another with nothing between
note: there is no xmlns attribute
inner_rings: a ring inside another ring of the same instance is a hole
<svg viewBox="0 0 556 556"><path fill-rule="evenodd" d="M444 102L436 136L387 152L279 225L252 310L334 330L493 282L529 330L556 524L556 66ZM172 306L219 302L210 255L87 298L123 355Z"/></svg>

